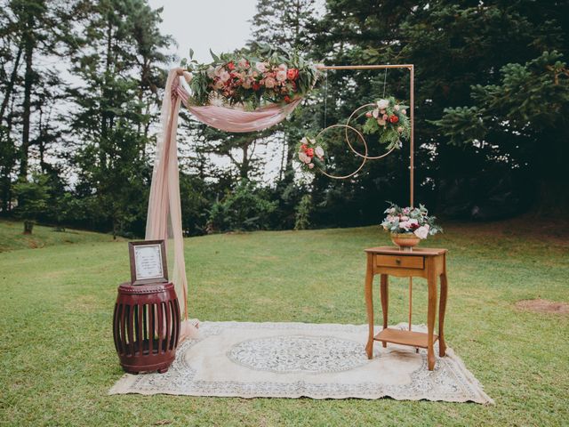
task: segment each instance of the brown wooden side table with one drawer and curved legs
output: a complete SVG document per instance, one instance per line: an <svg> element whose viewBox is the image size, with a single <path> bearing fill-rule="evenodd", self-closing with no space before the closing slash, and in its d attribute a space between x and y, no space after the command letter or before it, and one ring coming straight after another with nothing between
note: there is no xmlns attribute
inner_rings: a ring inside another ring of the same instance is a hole
<svg viewBox="0 0 569 427"><path fill-rule="evenodd" d="M416 248L402 251L394 246L365 249L367 270L365 273L365 303L369 337L365 350L368 359L373 359L373 341L381 341L383 347L388 342L411 345L427 349L429 371L435 368L433 344L438 340L439 355L445 356L445 310L446 310L446 249ZM381 275L381 310L383 311L383 330L373 336L373 277ZM429 286L429 305L427 310L427 334L413 331L400 331L388 327L388 286L389 275L399 278L426 278ZM434 334L437 317L437 278L440 278L441 297L438 306L438 335Z"/></svg>

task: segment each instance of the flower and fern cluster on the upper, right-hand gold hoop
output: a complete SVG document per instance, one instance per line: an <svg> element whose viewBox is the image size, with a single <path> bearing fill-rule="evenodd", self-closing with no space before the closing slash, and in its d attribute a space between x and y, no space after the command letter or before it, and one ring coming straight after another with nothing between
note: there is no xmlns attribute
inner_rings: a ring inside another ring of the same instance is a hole
<svg viewBox="0 0 569 427"><path fill-rule="evenodd" d="M379 133L380 142L389 144L387 149L399 147L401 140L411 136L409 107L398 103L393 96L377 101L376 105L375 109L365 113L364 133Z"/></svg>

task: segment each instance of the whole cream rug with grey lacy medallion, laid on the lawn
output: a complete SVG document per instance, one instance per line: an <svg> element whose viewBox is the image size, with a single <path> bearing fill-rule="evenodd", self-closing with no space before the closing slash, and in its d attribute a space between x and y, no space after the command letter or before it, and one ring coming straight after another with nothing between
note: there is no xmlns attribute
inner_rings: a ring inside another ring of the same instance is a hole
<svg viewBox="0 0 569 427"><path fill-rule="evenodd" d="M204 322L199 331L167 373L126 374L109 394L493 403L451 349L434 371L426 350L395 344L376 342L368 360L366 325Z"/></svg>

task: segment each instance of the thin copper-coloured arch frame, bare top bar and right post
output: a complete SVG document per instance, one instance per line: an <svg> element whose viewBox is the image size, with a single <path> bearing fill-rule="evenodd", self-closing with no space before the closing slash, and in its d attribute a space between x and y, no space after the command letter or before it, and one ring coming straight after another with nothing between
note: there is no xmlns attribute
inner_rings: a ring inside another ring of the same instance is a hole
<svg viewBox="0 0 569 427"><path fill-rule="evenodd" d="M409 107L411 109L411 114L409 115L409 120L411 121L411 138L409 139L409 205L413 207L414 203L414 169L415 169L415 149L414 149L414 75L415 68L413 64L394 64L394 65L319 65L318 69L386 69L386 68L406 68L409 70ZM346 129L348 131L348 129ZM350 145L351 149L351 145ZM353 149L352 149L353 151ZM389 151L390 152L390 151ZM389 153L387 153L389 154ZM386 154L386 155L387 155ZM365 156L367 157L367 147L365 148ZM360 155L361 157L361 155ZM384 156L382 156L384 157ZM365 158L364 158L365 160ZM363 166L363 164L362 164ZM360 166L361 169L361 166ZM359 169L358 169L359 170ZM413 313L413 278L409 278L409 330L411 331Z"/></svg>

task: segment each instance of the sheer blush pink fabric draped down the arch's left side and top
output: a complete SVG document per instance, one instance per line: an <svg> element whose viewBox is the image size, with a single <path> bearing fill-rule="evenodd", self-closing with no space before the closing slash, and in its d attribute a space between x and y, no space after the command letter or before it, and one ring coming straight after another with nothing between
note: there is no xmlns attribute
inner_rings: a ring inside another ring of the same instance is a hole
<svg viewBox="0 0 569 427"><path fill-rule="evenodd" d="M182 68L174 68L168 75L162 102L161 129L156 143L156 159L152 173L148 217L147 239L172 237L173 269L172 282L180 300L181 315L184 318L180 339L196 337L197 329L188 320L188 278L184 261L184 240L181 222L180 182L178 175L178 114L180 103L184 103L199 121L226 132L253 132L266 129L284 120L293 112L301 99L281 106L270 104L254 111L230 109L227 107L189 106L188 92L180 85L180 78L186 75Z"/></svg>

